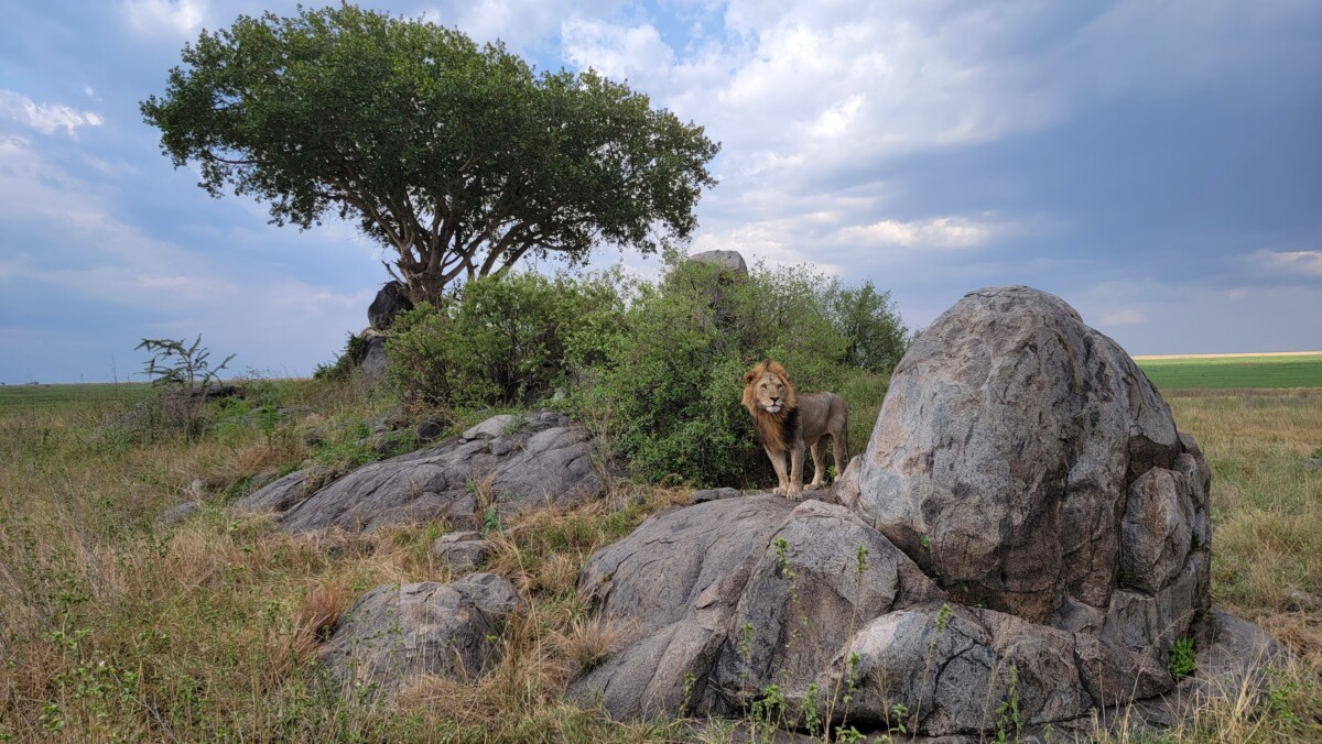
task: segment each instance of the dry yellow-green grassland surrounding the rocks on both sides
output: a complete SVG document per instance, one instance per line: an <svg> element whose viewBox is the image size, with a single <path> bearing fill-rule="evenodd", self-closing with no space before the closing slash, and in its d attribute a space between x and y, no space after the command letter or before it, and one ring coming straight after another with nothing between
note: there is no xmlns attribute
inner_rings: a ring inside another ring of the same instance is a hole
<svg viewBox="0 0 1322 744"><path fill-rule="evenodd" d="M381 583L452 579L428 550L446 525L309 539L225 506L303 464L373 457L352 432L391 402L352 385L258 382L251 404L290 411L274 429L245 424L247 404L231 404L186 441L126 414L136 394L46 390L61 395L0 403L0 740L727 740L694 722L616 724L562 702L566 681L612 642L576 601L579 567L685 489L620 482L619 509L509 521L488 568L516 583L529 612L496 670L472 685L424 678L391 698L341 695L313 662L328 620ZM1105 737L1322 740L1322 472L1306 461L1322 447L1322 390L1167 399L1214 469L1214 599L1300 663L1266 696L1208 702L1161 737ZM157 519L198 494L188 522Z"/></svg>

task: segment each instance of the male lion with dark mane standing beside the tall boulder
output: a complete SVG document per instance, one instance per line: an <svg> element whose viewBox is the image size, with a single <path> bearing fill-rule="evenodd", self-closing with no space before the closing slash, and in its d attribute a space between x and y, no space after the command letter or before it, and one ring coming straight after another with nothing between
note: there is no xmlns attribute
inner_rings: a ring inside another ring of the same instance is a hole
<svg viewBox="0 0 1322 744"><path fill-rule="evenodd" d="M826 473L826 441L832 439L836 470L843 472L849 463L845 449L849 411L845 400L834 392L795 391L785 367L767 359L744 374L743 404L752 414L771 465L780 481L776 493L797 500L804 489L804 447L813 453L813 482L808 489L818 489ZM785 474L785 455L789 453L789 474Z"/></svg>

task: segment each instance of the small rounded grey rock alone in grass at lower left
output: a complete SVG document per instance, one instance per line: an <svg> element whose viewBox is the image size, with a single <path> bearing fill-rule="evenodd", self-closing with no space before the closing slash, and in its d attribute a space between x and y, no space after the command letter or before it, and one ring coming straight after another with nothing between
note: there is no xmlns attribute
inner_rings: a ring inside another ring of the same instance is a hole
<svg viewBox="0 0 1322 744"><path fill-rule="evenodd" d="M345 686L393 688L416 674L472 679L498 661L517 605L514 587L494 574L377 587L336 624L320 658Z"/></svg>

